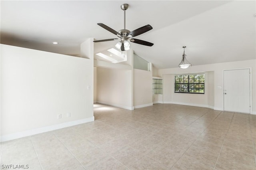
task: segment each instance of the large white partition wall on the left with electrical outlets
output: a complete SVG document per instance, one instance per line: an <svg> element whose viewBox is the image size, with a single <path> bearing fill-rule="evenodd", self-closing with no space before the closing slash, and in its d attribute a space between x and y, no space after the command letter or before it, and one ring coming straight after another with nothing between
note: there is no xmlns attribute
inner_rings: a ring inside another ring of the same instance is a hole
<svg viewBox="0 0 256 170"><path fill-rule="evenodd" d="M1 44L2 140L93 120L93 59Z"/></svg>

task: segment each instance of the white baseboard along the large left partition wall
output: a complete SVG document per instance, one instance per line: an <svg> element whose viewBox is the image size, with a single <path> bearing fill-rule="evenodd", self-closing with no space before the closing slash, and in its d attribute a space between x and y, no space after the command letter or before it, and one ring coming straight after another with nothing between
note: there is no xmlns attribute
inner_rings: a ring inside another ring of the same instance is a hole
<svg viewBox="0 0 256 170"><path fill-rule="evenodd" d="M87 123L87 122L92 122L92 121L94 121L94 116L86 118L86 119L80 119L77 121L61 123L61 124L52 125L52 126L48 126L48 127L41 127L41 128L36 128L36 129L32 129L32 130L25 130L22 132L6 134L6 135L1 136L1 142L13 140L13 139L17 139L17 138L22 138L22 137L26 137L26 136L31 136L31 135L39 134L39 133L43 133L43 132L48 132L48 131L52 131L52 130L56 130L56 129L60 129L60 128L71 127L74 125L79 125L82 123Z"/></svg>

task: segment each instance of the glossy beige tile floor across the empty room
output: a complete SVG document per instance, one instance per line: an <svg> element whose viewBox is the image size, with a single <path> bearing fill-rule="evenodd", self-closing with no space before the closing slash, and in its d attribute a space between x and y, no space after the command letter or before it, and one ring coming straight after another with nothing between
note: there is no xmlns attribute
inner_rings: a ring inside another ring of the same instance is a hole
<svg viewBox="0 0 256 170"><path fill-rule="evenodd" d="M3 164L29 169L256 170L256 115L156 104L95 104L95 121L1 144Z"/></svg>

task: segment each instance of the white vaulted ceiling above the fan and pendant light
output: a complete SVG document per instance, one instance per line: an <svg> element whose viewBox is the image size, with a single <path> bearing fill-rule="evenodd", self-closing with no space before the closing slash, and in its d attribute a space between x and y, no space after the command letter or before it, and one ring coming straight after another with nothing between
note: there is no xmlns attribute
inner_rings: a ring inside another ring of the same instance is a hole
<svg viewBox="0 0 256 170"><path fill-rule="evenodd" d="M1 43L79 55L80 44L117 38L101 28L124 27L121 4L129 4L126 29L147 24L153 30L135 38L152 47L130 43L140 57L159 69L178 67L183 48L192 65L256 58L256 1L3 1ZM54 45L52 42L59 42ZM94 43L94 53L116 41Z"/></svg>

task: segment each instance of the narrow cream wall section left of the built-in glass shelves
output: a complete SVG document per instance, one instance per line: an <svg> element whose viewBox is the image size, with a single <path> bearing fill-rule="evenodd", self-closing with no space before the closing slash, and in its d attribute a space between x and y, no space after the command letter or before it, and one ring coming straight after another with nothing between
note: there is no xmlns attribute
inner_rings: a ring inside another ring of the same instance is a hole
<svg viewBox="0 0 256 170"><path fill-rule="evenodd" d="M134 109L152 105L152 71L134 69Z"/></svg>

